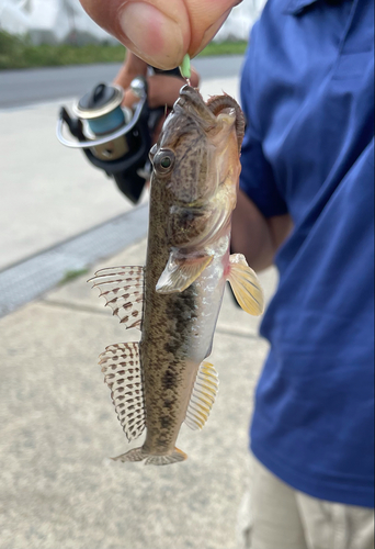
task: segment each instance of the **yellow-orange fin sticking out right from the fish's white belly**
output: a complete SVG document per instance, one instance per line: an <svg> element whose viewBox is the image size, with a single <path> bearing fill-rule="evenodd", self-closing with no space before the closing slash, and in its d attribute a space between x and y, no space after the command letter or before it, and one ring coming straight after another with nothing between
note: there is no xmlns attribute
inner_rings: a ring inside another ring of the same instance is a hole
<svg viewBox="0 0 375 549"><path fill-rule="evenodd" d="M264 294L255 272L242 254L229 258L228 280L239 305L249 314L259 316L264 311Z"/></svg>

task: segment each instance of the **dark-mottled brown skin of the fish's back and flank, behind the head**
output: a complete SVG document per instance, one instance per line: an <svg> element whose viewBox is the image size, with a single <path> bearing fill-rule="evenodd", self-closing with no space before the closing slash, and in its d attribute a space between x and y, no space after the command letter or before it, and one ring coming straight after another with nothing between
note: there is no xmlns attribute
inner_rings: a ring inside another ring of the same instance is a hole
<svg viewBox="0 0 375 549"><path fill-rule="evenodd" d="M149 411L144 449L148 453L162 455L174 450L200 366L191 357L198 309L194 284L178 293L161 294L156 291L169 253L166 211L160 208L163 203L163 186L152 184L139 347L144 365L145 407Z"/></svg>

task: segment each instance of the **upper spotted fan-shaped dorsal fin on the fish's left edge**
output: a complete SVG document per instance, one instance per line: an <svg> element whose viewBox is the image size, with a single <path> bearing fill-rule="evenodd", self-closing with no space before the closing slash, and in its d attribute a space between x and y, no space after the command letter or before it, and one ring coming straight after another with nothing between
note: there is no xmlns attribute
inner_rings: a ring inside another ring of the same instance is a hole
<svg viewBox="0 0 375 549"><path fill-rule="evenodd" d="M113 314L126 328L140 328L144 305L144 267L110 267L88 282L99 288Z"/></svg>

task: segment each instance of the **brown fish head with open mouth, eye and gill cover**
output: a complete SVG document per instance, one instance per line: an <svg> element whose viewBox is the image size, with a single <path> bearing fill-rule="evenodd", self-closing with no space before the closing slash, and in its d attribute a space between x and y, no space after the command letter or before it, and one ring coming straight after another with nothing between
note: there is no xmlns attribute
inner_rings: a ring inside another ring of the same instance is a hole
<svg viewBox="0 0 375 549"><path fill-rule="evenodd" d="M169 204L172 245L203 242L230 217L242 136L243 116L229 96L205 103L196 89L180 90L150 150L151 187L161 186L159 195Z"/></svg>

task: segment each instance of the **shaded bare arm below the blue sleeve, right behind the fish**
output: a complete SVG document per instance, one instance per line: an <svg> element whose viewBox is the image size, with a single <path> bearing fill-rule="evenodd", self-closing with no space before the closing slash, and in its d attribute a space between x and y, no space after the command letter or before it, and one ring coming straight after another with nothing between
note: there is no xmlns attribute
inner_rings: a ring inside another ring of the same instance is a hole
<svg viewBox="0 0 375 549"><path fill-rule="evenodd" d="M231 250L241 253L258 271L273 265L273 258L293 228L288 214L264 217L248 195L239 190L231 222Z"/></svg>

